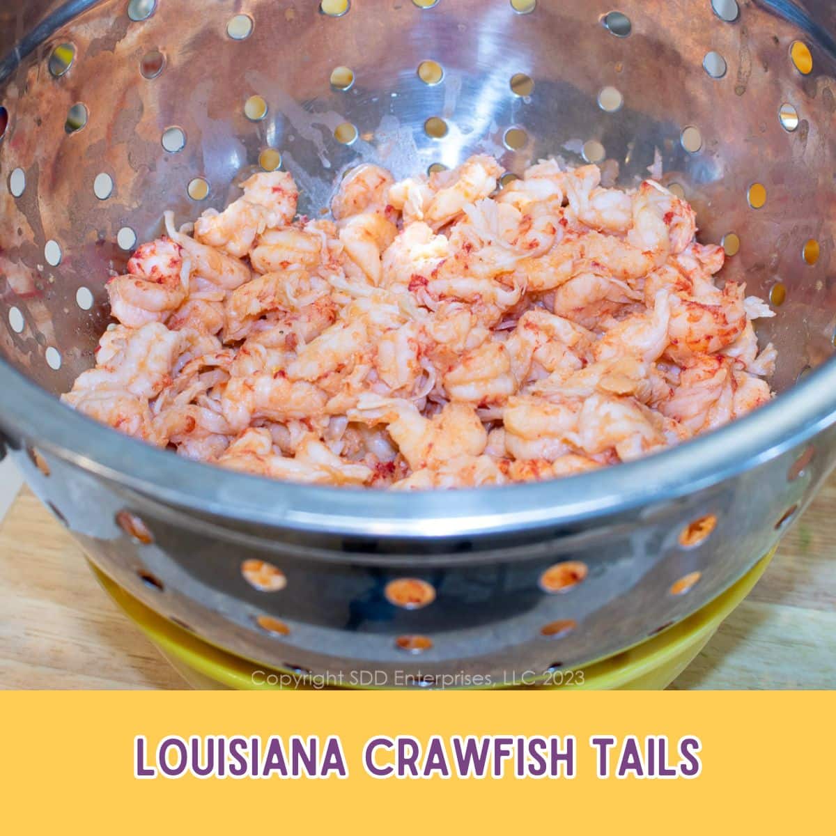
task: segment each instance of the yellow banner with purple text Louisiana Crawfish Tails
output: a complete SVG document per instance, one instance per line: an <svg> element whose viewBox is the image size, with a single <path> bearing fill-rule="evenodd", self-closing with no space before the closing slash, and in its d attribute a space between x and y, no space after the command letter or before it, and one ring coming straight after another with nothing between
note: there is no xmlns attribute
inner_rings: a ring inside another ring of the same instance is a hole
<svg viewBox="0 0 836 836"><path fill-rule="evenodd" d="M818 832L834 709L832 693L7 692L3 832Z"/></svg>

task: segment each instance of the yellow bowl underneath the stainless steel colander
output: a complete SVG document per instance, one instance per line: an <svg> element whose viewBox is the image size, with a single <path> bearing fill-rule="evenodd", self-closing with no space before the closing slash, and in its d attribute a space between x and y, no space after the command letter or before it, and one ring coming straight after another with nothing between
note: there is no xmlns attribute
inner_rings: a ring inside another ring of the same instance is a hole
<svg viewBox="0 0 836 836"><path fill-rule="evenodd" d="M706 646L732 610L752 591L771 559L772 553L767 554L737 584L680 624L630 650L586 666L583 675L566 674L561 677L562 684L539 687L657 691L669 686ZM193 688L282 690L281 682L287 681L287 674L282 677L281 671L259 668L264 670L265 675L259 677L259 682L253 681L252 662L220 650L172 624L125 592L99 569L92 568L125 615L148 636ZM277 676L269 677L270 673ZM274 682L278 680L279 684L269 683L269 678Z"/></svg>

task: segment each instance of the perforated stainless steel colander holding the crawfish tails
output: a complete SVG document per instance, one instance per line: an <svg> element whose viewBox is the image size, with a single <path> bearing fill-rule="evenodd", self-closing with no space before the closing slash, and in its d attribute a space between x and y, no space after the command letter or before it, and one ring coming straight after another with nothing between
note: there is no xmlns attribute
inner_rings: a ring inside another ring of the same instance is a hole
<svg viewBox="0 0 836 836"><path fill-rule="evenodd" d="M431 685L612 655L777 543L836 461L836 6L612 3L3 4L0 438L99 568L264 665ZM222 472L55 398L164 210L222 208L280 159L313 216L359 161L475 151L662 171L726 277L772 300L777 400L602 472L403 495Z"/></svg>

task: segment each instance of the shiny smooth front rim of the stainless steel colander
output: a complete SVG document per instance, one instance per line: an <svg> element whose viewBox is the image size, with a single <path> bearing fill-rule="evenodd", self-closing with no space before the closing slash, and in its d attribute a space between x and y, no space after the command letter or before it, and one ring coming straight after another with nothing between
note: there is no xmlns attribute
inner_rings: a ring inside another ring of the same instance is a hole
<svg viewBox="0 0 836 836"><path fill-rule="evenodd" d="M0 391L0 428L150 501L285 531L435 541L589 526L737 477L836 422L836 359L770 404L681 446L552 482L453 493L300 485L189 461L79 414L2 359Z"/></svg>

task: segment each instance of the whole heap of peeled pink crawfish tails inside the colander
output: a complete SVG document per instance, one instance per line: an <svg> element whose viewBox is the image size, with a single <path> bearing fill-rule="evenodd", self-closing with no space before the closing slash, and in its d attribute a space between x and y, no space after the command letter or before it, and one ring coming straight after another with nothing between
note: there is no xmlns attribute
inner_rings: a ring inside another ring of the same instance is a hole
<svg viewBox="0 0 836 836"><path fill-rule="evenodd" d="M429 490L632 461L772 398L772 310L716 283L686 201L597 166L502 173L364 164L310 220L275 171L193 226L166 212L64 402L238 472Z"/></svg>

